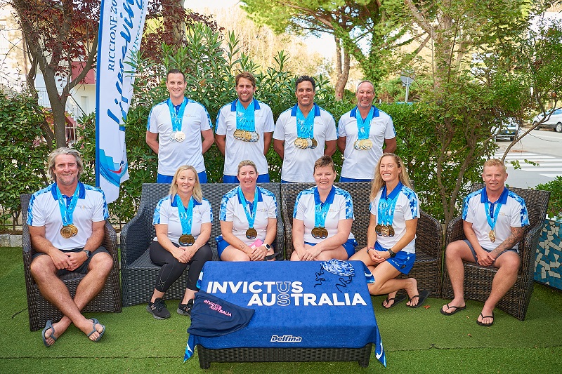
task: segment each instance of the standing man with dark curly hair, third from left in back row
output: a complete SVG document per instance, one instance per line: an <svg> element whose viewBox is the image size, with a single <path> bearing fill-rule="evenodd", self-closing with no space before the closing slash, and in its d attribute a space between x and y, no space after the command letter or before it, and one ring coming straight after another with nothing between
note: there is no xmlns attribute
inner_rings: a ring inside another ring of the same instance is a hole
<svg viewBox="0 0 562 374"><path fill-rule="evenodd" d="M283 160L281 182L314 182L314 163L336 152L336 122L314 102L316 83L311 76L295 81L296 105L275 123L273 149Z"/></svg>

